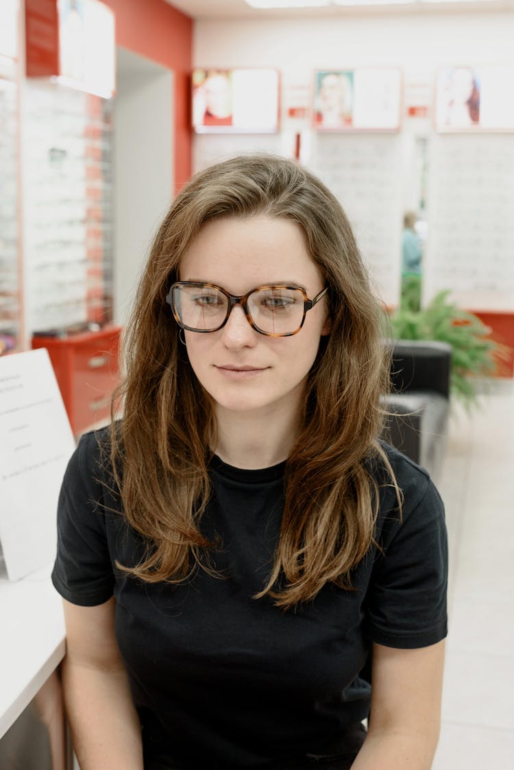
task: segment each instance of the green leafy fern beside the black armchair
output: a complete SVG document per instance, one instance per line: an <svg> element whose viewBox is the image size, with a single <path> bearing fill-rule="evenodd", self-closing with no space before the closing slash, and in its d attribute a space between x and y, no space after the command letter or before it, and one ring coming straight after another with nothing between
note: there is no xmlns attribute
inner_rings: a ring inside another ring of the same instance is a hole
<svg viewBox="0 0 514 770"><path fill-rule="evenodd" d="M449 301L441 291L421 310L402 303L389 318L397 340L438 340L452 346L450 393L472 406L476 401L476 377L492 374L505 357L505 348L491 340L489 327Z"/></svg>

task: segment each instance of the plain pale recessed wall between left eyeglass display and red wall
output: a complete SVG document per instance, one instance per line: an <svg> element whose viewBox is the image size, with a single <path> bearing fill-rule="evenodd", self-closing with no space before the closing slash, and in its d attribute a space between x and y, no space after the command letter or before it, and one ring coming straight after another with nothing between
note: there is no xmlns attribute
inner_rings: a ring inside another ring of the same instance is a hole
<svg viewBox="0 0 514 770"><path fill-rule="evenodd" d="M118 47L114 107L114 320L125 325L174 189L173 72Z"/></svg>

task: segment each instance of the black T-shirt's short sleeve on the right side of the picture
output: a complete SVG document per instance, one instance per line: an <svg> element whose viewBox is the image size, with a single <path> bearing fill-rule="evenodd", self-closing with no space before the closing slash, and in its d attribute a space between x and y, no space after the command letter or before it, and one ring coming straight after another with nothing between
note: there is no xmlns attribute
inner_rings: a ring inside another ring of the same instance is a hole
<svg viewBox="0 0 514 770"><path fill-rule="evenodd" d="M388 517L382 528L367 604L372 641L409 649L446 637L448 543L444 506L429 477L412 473L404 494L402 521Z"/></svg>

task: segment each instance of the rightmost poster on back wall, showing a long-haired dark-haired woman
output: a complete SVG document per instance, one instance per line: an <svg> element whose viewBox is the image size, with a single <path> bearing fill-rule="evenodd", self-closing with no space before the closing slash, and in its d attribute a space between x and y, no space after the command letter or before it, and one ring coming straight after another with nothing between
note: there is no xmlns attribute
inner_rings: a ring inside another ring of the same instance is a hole
<svg viewBox="0 0 514 770"><path fill-rule="evenodd" d="M436 77L436 130L514 131L512 65L445 66Z"/></svg>

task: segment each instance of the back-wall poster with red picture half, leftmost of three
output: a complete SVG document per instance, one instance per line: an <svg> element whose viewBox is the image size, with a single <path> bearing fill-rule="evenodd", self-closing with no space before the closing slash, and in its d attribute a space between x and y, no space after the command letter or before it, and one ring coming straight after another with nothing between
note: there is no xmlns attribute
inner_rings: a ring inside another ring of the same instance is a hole
<svg viewBox="0 0 514 770"><path fill-rule="evenodd" d="M278 70L195 69L192 126L197 133L277 132Z"/></svg>

